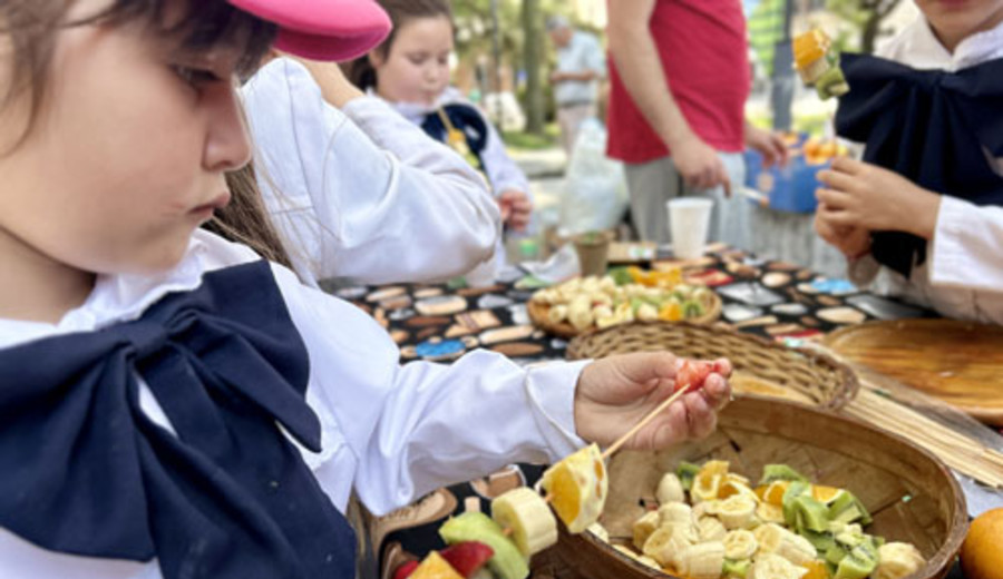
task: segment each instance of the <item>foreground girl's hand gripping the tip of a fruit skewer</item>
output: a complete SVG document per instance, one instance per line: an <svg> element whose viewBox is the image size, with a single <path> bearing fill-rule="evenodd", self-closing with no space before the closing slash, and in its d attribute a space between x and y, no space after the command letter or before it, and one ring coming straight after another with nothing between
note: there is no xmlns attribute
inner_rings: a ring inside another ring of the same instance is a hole
<svg viewBox="0 0 1003 579"><path fill-rule="evenodd" d="M610 445L671 396L681 359L665 352L624 354L585 366L575 392L575 424L585 440ZM731 363L717 362L721 373L708 376L704 386L684 394L635 434L629 449L663 449L709 435L717 426L717 411L731 398L727 377Z"/></svg>

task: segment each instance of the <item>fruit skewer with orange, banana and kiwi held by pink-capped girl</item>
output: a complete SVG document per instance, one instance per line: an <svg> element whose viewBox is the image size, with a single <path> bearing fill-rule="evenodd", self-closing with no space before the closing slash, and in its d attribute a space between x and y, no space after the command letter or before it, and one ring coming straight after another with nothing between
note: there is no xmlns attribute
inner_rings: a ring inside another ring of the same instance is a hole
<svg viewBox="0 0 1003 579"><path fill-rule="evenodd" d="M450 518L439 529L449 547L401 566L395 579L525 579L529 558L557 542L557 518L571 533L596 523L608 490L605 460L717 370L712 362L683 361L673 394L605 451L591 444L547 469L539 481L544 495L520 487L491 501L490 517L469 511Z"/></svg>

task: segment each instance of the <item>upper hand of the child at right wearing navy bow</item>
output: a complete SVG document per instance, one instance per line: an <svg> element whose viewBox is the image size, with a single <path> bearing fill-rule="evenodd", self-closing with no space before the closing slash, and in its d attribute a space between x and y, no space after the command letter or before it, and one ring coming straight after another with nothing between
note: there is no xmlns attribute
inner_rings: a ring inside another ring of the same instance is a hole
<svg viewBox="0 0 1003 579"><path fill-rule="evenodd" d="M939 195L888 169L845 157L837 157L818 178L828 188L816 196L828 207L827 219L834 226L933 238Z"/></svg>

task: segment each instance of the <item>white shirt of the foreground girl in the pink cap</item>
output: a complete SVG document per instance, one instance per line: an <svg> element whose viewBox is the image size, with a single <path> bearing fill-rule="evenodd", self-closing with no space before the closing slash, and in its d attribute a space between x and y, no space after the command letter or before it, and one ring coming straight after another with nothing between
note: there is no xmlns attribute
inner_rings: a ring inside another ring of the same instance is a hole
<svg viewBox="0 0 1003 579"><path fill-rule="evenodd" d="M58 324L0 320L0 349L136 320L167 293L198 287L204 273L257 258L199 229L173 271L100 276L87 301ZM322 425L321 452L301 451L339 509L354 490L367 508L382 514L444 484L514 462L556 461L584 444L574 424L574 392L584 363L527 370L476 351L451 365L400 365L387 332L362 311L302 285L282 266L272 271L310 354L306 402ZM142 387L143 410L171 430L153 394ZM55 553L0 529L0 577L149 579L160 573L155 561Z"/></svg>

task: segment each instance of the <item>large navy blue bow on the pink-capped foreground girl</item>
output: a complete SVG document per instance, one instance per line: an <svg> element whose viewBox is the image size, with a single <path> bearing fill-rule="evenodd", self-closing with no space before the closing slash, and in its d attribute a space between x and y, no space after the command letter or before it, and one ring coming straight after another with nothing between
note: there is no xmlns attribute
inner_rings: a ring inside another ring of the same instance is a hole
<svg viewBox="0 0 1003 579"><path fill-rule="evenodd" d="M140 410L137 375L176 435ZM2 350L0 376L0 526L16 534L157 558L168 579L354 576L351 528L282 432L320 449L306 350L265 262L135 322Z"/></svg>

